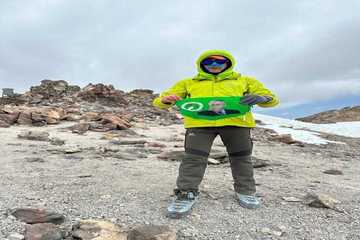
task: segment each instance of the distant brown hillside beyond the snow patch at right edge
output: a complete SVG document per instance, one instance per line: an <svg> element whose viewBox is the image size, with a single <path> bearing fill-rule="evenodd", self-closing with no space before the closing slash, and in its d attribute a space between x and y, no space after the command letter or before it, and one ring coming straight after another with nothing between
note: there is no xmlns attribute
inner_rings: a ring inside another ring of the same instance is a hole
<svg viewBox="0 0 360 240"><path fill-rule="evenodd" d="M298 118L297 120L312 123L336 123L360 121L360 106L345 107L317 113L311 116Z"/></svg>

